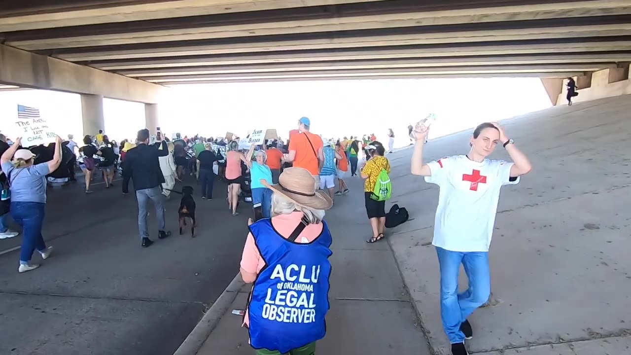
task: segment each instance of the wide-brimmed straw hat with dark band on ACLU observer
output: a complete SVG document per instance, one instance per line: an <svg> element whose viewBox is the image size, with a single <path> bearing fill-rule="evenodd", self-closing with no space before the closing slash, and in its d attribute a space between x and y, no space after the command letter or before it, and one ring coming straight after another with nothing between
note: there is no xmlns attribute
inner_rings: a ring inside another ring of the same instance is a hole
<svg viewBox="0 0 631 355"><path fill-rule="evenodd" d="M333 207L333 200L326 193L315 191L314 176L302 167L285 169L278 178L278 184L271 185L266 179L261 179L261 184L300 207L314 210L328 210Z"/></svg>

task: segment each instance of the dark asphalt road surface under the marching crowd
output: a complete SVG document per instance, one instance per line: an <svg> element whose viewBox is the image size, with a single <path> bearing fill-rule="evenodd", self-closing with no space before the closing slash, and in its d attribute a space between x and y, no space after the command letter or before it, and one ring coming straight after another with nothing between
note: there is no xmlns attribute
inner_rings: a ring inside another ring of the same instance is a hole
<svg viewBox="0 0 631 355"><path fill-rule="evenodd" d="M49 188L42 267L18 274L21 236L0 240L0 354L171 355L239 270L251 206L233 217L226 187L215 199L195 191L198 227L177 231L179 196L167 202L170 238L141 248L136 196L121 181ZM194 181L189 181L199 190ZM182 183L176 185L176 190ZM130 186L131 187L131 186Z"/></svg>

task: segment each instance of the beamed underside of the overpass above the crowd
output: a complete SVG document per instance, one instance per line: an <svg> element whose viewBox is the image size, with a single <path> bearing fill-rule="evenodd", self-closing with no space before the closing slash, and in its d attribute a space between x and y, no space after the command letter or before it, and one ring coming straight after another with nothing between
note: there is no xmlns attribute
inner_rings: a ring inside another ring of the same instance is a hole
<svg viewBox="0 0 631 355"><path fill-rule="evenodd" d="M162 85L564 78L631 62L630 0L49 3L2 4L1 43Z"/></svg>

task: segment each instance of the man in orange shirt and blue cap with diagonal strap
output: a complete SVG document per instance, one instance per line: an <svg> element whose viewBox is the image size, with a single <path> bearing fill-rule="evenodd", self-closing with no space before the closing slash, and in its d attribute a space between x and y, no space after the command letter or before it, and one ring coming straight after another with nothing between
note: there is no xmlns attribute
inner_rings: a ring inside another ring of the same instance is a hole
<svg viewBox="0 0 631 355"><path fill-rule="evenodd" d="M311 121L307 117L298 120L298 134L289 141L289 153L283 162L293 163L293 167L307 169L315 178L315 189L320 188L320 169L324 164L324 143L319 135L309 131Z"/></svg>

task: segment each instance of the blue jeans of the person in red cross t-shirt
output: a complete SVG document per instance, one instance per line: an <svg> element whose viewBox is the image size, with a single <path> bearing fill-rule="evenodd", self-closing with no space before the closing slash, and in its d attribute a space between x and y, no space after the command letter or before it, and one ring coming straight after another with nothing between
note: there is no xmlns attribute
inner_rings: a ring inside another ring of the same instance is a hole
<svg viewBox="0 0 631 355"><path fill-rule="evenodd" d="M460 325L476 308L488 301L491 274L488 252L449 251L436 247L440 264L440 316L451 344L464 341ZM469 288L458 294L460 264L469 279Z"/></svg>

